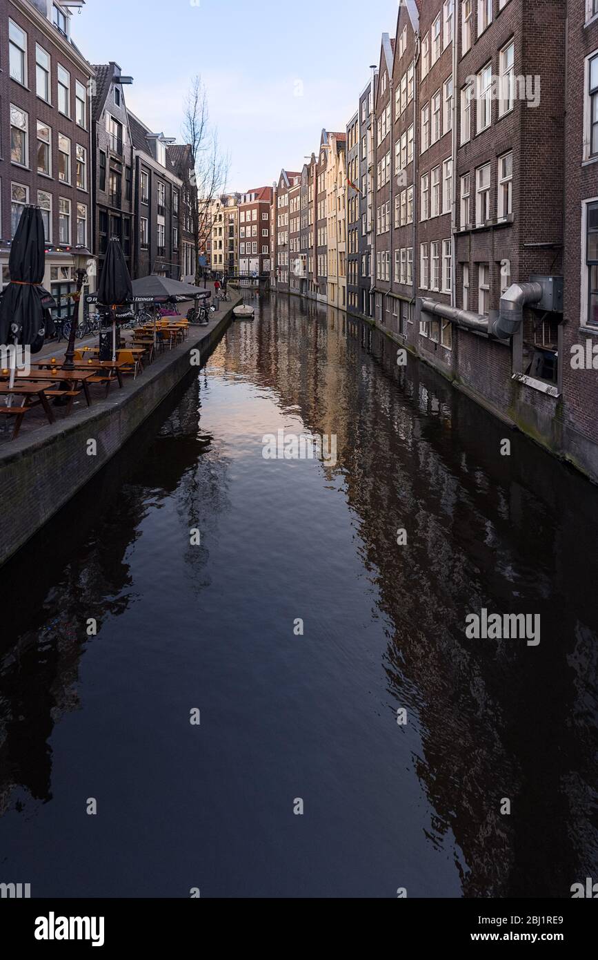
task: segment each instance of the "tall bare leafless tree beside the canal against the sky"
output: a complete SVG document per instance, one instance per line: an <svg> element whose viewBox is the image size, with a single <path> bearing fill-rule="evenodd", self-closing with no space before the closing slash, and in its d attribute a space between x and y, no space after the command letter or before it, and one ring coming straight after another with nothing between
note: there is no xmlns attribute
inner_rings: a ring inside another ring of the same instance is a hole
<svg viewBox="0 0 598 960"><path fill-rule="evenodd" d="M215 216L214 203L225 192L230 159L222 154L218 132L210 124L208 98L199 76L194 77L183 108L183 140L191 148L191 169L185 186L191 195L191 219L196 253L196 285L199 285L200 241L209 236Z"/></svg>

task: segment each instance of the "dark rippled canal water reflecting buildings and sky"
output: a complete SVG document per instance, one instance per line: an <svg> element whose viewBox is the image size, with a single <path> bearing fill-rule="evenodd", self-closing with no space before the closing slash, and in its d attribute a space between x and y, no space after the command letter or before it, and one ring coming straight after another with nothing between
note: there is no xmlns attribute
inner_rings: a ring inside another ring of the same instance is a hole
<svg viewBox="0 0 598 960"><path fill-rule="evenodd" d="M255 303L1 572L0 881L570 897L598 491L367 325ZM278 431L335 458L266 459ZM482 609L540 643L466 636Z"/></svg>

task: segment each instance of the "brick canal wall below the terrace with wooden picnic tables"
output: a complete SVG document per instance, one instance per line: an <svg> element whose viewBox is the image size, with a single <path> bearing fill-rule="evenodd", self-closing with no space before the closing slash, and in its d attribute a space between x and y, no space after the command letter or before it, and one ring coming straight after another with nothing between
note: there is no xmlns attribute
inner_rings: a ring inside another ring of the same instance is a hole
<svg viewBox="0 0 598 960"><path fill-rule="evenodd" d="M233 319L233 297L206 327L189 328L184 343L159 355L123 390L113 386L64 420L44 423L0 451L0 566L5 564L123 448L135 431L181 381L193 375L191 351L201 366ZM220 309L222 309L222 307ZM90 443L93 442L93 443ZM77 516L72 517L77 523Z"/></svg>

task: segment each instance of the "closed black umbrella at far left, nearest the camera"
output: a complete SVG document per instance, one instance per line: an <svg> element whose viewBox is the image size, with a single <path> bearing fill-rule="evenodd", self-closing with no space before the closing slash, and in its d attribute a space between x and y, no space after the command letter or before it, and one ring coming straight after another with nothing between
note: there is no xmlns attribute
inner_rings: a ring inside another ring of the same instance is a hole
<svg viewBox="0 0 598 960"><path fill-rule="evenodd" d="M26 206L14 234L9 256L11 282L0 302L0 344L21 344L37 353L46 336L54 336L50 307L56 303L41 285L46 264L41 212ZM11 364L14 383L16 357Z"/></svg>

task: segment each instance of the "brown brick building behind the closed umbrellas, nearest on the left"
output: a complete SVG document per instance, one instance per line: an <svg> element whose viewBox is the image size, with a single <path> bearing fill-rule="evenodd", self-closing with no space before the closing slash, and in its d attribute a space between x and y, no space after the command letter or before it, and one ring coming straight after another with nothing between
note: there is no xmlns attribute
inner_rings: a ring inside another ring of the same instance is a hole
<svg viewBox="0 0 598 960"><path fill-rule="evenodd" d="M50 0L3 0L0 12L0 266L9 281L9 244L23 207L41 208L44 284L70 314L73 257L91 249L90 82L94 70L70 39L72 8ZM93 275L93 268L90 270ZM91 280L93 284L93 280Z"/></svg>

